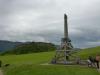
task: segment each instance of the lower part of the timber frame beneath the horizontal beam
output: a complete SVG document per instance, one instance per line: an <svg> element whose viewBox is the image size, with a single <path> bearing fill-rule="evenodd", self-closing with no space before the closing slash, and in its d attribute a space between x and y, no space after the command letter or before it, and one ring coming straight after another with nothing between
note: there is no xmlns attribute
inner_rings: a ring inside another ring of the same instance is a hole
<svg viewBox="0 0 100 75"><path fill-rule="evenodd" d="M56 50L55 57L52 59L53 64L71 64L69 56L72 50Z"/></svg>

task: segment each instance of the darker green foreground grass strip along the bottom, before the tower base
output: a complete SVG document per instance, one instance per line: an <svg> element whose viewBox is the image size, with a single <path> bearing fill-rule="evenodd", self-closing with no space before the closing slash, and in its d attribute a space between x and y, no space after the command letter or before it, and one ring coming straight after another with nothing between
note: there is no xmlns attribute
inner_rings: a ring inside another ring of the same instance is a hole
<svg viewBox="0 0 100 75"><path fill-rule="evenodd" d="M20 65L4 70L5 75L100 75L93 68L64 65Z"/></svg>

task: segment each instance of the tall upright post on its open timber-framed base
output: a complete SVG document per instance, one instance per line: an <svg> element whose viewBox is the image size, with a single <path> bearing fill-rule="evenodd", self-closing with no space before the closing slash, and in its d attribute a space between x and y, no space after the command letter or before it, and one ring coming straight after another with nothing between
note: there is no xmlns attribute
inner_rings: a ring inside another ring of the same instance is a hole
<svg viewBox="0 0 100 75"><path fill-rule="evenodd" d="M71 40L68 37L68 22L67 22L67 15L64 14L64 36L61 39L61 46L60 49L56 50L55 57L52 59L52 63L62 63L67 64L69 60L70 52L73 48L71 44Z"/></svg>

